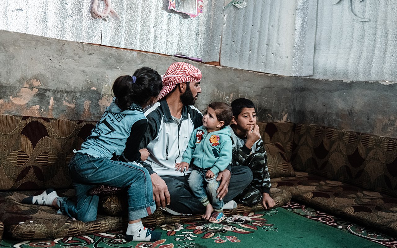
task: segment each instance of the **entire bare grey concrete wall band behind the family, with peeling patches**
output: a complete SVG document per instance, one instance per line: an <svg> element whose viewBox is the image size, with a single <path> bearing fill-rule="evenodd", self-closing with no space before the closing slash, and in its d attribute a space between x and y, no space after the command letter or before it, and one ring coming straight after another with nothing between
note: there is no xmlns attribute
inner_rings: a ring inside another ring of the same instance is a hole
<svg viewBox="0 0 397 248"><path fill-rule="evenodd" d="M160 74L175 57L0 31L0 113L98 120L119 75ZM397 84L283 77L194 64L203 73L196 106L250 98L261 121L315 123L397 137Z"/></svg>

